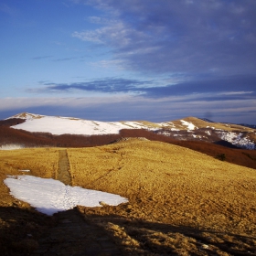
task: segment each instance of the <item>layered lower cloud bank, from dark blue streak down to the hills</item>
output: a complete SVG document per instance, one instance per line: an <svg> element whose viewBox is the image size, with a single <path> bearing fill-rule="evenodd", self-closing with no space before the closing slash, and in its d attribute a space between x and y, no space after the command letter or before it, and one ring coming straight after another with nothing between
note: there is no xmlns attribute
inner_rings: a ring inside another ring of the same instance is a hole
<svg viewBox="0 0 256 256"><path fill-rule="evenodd" d="M253 123L255 119L255 76L207 79L181 76L175 83L170 80L41 81L39 88L29 92L48 93L48 98L3 99L0 116L10 112L37 112L99 121L162 122L186 116L204 117L210 112L218 122ZM60 92L70 95L73 91L78 91L80 97L59 97ZM101 92L101 96L95 96L96 93L89 97L87 91Z"/></svg>

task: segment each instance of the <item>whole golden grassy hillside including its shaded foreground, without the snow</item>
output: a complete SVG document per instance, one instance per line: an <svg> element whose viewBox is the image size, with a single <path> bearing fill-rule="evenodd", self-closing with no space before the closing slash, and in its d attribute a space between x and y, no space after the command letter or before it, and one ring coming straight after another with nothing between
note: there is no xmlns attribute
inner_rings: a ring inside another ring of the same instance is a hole
<svg viewBox="0 0 256 256"><path fill-rule="evenodd" d="M59 150L1 151L0 238L4 255L15 251L48 255L64 248L66 253L81 253L82 244L91 248L95 242L111 255L256 253L254 169L145 139L67 148L72 186L118 194L129 203L101 208L79 206L68 211L65 219L61 213L44 217L11 197L3 180L6 175L21 175L19 170L25 169L32 176L58 177ZM70 226L75 215L87 223L80 222L80 226L91 232L90 237L83 234L86 238L81 244L81 230ZM64 232L67 227L78 240L71 241L71 235ZM96 239L97 234L103 236L102 240Z"/></svg>

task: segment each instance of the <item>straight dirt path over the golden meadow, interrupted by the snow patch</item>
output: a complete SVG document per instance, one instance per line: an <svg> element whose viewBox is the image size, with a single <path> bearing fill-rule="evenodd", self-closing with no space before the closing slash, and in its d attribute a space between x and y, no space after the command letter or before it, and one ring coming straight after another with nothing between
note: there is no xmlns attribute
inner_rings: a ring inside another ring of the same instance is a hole
<svg viewBox="0 0 256 256"><path fill-rule="evenodd" d="M59 150L59 181L71 186L67 150ZM32 255L122 255L103 229L86 221L77 208L59 212L54 227L46 229Z"/></svg>

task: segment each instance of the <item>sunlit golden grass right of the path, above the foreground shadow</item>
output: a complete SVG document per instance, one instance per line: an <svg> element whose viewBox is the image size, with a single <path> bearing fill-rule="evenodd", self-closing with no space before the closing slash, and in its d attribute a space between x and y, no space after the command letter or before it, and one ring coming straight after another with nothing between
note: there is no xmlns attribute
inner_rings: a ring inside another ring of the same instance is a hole
<svg viewBox="0 0 256 256"><path fill-rule="evenodd" d="M255 170L172 144L69 149L73 185L129 199L125 217L255 234Z"/></svg>

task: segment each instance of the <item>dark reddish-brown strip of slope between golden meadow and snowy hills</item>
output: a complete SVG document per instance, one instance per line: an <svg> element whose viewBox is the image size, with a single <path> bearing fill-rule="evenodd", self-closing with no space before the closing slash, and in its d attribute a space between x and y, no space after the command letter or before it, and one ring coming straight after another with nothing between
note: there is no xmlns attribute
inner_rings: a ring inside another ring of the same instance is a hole
<svg viewBox="0 0 256 256"><path fill-rule="evenodd" d="M6 125L0 126L0 144L3 149L26 147L91 147L104 144L112 144L125 137L144 137L151 141L160 141L176 144L196 150L198 152L219 157L225 155L225 161L236 165L243 165L256 169L256 151L238 149L228 142L219 140L216 144L201 140L176 140L176 137L165 136L143 129L123 129L118 134L105 135L76 135L51 133L29 133L17 130ZM219 145L220 144L220 145ZM231 148L233 146L234 148Z"/></svg>

